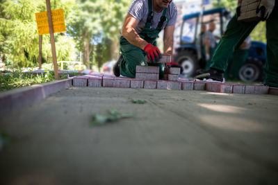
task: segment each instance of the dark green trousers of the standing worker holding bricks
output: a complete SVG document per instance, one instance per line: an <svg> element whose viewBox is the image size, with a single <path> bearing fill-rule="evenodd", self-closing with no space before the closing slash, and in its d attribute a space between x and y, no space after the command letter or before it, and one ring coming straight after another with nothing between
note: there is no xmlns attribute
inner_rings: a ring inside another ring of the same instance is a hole
<svg viewBox="0 0 278 185"><path fill-rule="evenodd" d="M265 80L264 85L278 87L278 1L275 0L275 8L266 20L266 39L267 39L267 59L265 61ZM236 15L229 21L227 30L222 36L220 43L215 49L211 59L211 68L225 71L227 62L234 53L235 48L243 43L245 38L250 35L259 21L240 22Z"/></svg>

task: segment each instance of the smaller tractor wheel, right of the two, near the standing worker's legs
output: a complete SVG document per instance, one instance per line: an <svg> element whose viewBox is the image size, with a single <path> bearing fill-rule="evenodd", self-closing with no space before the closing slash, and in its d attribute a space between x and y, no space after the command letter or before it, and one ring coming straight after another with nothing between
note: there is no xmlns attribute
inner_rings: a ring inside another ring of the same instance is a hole
<svg viewBox="0 0 278 185"><path fill-rule="evenodd" d="M263 80L263 64L261 61L247 61L239 70L239 78L244 82Z"/></svg>

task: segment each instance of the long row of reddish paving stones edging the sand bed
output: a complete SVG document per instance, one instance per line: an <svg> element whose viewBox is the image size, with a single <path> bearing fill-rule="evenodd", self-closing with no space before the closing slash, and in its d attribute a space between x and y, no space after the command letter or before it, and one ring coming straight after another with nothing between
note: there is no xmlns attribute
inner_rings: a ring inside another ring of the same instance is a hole
<svg viewBox="0 0 278 185"><path fill-rule="evenodd" d="M76 76L72 82L75 87L119 87L144 89L178 89L178 90L206 90L229 94L275 94L278 88L264 85L243 85L238 83L190 81L179 78L170 80L141 80L136 78L116 77L105 74Z"/></svg>

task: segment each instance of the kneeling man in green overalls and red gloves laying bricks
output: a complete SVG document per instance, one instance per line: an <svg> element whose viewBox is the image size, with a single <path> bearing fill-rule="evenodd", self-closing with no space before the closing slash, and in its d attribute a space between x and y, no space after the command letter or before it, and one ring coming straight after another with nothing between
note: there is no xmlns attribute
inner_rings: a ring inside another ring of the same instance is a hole
<svg viewBox="0 0 278 185"><path fill-rule="evenodd" d="M156 38L164 29L163 52L172 55L176 19L177 8L172 0L133 0L122 26L122 55L114 66L115 76L135 78L137 65L152 65L159 67L163 78L165 64L156 63L161 58ZM145 62L145 55L152 63Z"/></svg>

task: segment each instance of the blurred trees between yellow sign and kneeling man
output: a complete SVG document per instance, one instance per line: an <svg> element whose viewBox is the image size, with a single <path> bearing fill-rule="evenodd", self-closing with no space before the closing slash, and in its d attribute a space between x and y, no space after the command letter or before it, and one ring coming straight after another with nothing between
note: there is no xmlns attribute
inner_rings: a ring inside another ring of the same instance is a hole
<svg viewBox="0 0 278 185"><path fill-rule="evenodd" d="M70 35L83 51L83 63L98 67L119 53L120 29L131 0L80 0L68 25ZM101 49L100 49L101 48Z"/></svg>

